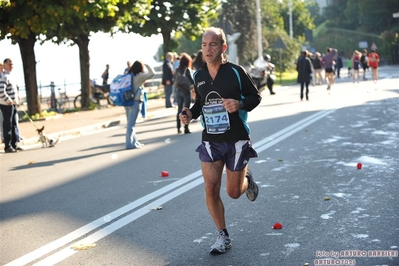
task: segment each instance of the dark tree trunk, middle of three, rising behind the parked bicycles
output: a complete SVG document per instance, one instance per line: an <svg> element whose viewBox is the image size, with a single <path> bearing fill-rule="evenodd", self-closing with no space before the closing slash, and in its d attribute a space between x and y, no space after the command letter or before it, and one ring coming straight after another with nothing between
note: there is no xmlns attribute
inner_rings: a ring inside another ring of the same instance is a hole
<svg viewBox="0 0 399 266"><path fill-rule="evenodd" d="M89 107L90 100L90 55L89 55L89 36L81 34L73 40L79 47L80 60L80 84L82 91L82 107Z"/></svg>

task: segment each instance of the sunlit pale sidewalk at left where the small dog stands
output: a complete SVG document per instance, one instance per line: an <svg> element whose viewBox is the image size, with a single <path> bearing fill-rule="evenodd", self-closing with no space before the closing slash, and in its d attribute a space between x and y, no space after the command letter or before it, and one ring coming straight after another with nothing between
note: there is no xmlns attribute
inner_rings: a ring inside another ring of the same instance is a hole
<svg viewBox="0 0 399 266"><path fill-rule="evenodd" d="M21 108L19 108L21 109ZM165 108L165 99L152 99L147 103L147 117L145 120L176 114L175 108ZM144 119L139 115L137 123ZM98 110L80 111L59 114L46 120L24 121L19 123L19 130L23 140L19 146L24 147L38 144L37 128L44 126L46 134L53 139L79 136L83 133L118 126L126 123L125 109L121 106L108 106ZM40 144L41 145L41 144ZM0 144L0 152L4 151L4 144Z"/></svg>

